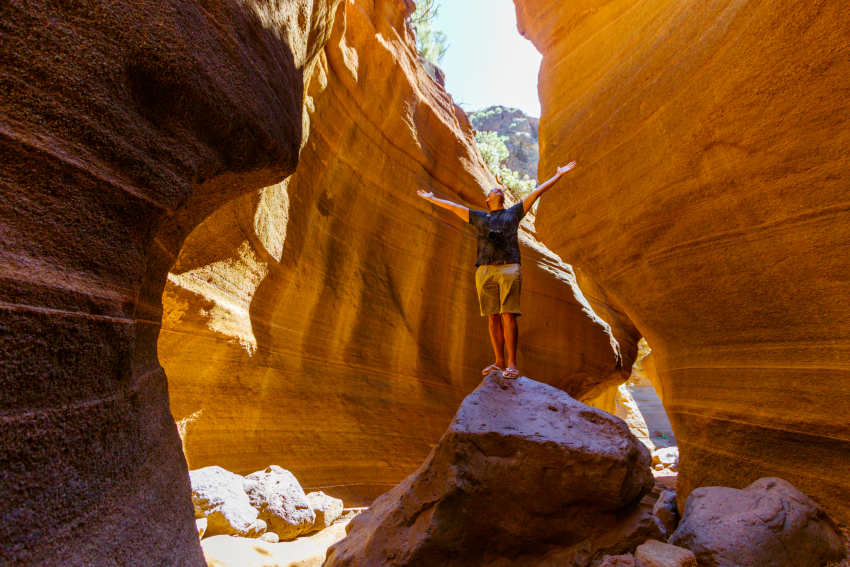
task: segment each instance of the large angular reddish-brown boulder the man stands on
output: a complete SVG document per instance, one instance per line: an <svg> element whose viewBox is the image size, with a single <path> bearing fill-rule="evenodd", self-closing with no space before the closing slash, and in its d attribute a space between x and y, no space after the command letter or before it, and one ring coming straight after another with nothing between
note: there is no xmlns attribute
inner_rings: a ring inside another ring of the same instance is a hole
<svg viewBox="0 0 850 567"><path fill-rule="evenodd" d="M593 547L652 488L649 463L622 420L528 378L502 389L490 376L419 470L351 521L326 565L476 565Z"/></svg>

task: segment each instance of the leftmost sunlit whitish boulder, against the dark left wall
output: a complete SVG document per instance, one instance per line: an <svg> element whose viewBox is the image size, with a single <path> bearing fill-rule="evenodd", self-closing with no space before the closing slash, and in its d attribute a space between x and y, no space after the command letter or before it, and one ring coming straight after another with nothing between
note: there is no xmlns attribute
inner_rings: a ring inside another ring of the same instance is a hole
<svg viewBox="0 0 850 567"><path fill-rule="evenodd" d="M221 467L189 471L195 518L206 518L205 534L256 535L257 510L242 489L243 478Z"/></svg>

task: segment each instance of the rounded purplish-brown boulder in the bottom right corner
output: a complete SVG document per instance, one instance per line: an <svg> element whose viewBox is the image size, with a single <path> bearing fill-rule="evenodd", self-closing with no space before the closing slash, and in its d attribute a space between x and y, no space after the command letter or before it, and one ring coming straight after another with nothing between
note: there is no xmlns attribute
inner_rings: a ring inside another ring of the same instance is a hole
<svg viewBox="0 0 850 567"><path fill-rule="evenodd" d="M694 490L670 543L690 549L701 567L818 567L844 555L832 519L778 478Z"/></svg>

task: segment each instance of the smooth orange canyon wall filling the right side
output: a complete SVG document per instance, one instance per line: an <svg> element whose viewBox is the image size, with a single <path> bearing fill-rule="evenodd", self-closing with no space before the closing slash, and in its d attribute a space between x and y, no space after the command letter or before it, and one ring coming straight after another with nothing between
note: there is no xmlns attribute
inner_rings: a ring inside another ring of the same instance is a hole
<svg viewBox="0 0 850 567"><path fill-rule="evenodd" d="M850 13L516 0L543 53L542 240L653 347L680 502L790 481L850 521Z"/></svg>

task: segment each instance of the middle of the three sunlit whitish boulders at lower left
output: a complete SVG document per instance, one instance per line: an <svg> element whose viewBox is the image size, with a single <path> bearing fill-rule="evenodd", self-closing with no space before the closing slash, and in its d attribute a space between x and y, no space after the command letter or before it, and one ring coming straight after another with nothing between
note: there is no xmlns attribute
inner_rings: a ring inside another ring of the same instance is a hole
<svg viewBox="0 0 850 567"><path fill-rule="evenodd" d="M272 465L246 476L242 486L269 531L280 539L292 539L313 528L316 514L288 470Z"/></svg>

